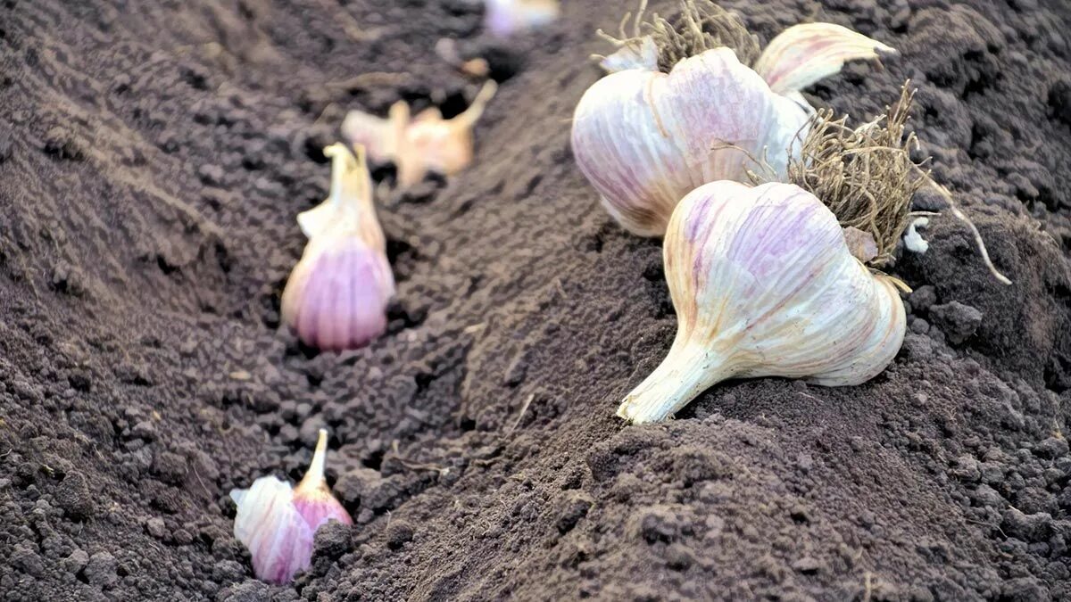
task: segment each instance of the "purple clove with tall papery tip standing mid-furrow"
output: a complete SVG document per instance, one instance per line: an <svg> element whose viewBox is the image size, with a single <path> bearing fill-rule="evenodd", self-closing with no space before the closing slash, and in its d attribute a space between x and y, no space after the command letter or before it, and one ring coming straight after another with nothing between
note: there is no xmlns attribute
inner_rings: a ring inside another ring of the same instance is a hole
<svg viewBox="0 0 1071 602"><path fill-rule="evenodd" d="M298 215L308 243L283 290L283 321L325 350L360 347L382 334L394 295L372 180L358 153L340 144L323 150L332 162L331 193Z"/></svg>

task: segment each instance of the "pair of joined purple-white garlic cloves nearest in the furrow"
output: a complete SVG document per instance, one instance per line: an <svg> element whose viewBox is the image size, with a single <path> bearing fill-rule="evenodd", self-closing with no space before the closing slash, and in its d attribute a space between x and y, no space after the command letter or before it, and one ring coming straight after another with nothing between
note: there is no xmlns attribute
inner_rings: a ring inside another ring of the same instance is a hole
<svg viewBox="0 0 1071 602"><path fill-rule="evenodd" d="M253 559L257 578L284 584L308 568L316 529L328 521L353 523L323 479L328 433L320 430L313 462L293 490L275 477L261 477L247 490L230 492L238 505L235 539Z"/></svg>

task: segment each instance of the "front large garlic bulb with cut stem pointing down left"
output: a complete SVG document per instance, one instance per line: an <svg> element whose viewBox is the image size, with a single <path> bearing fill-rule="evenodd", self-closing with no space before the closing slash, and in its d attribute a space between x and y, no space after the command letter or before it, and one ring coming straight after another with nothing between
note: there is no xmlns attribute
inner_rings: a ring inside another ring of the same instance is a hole
<svg viewBox="0 0 1071 602"><path fill-rule="evenodd" d="M903 343L893 279L854 257L833 213L794 184L696 189L669 222L664 257L677 336L618 409L631 422L663 420L727 378L858 385Z"/></svg>

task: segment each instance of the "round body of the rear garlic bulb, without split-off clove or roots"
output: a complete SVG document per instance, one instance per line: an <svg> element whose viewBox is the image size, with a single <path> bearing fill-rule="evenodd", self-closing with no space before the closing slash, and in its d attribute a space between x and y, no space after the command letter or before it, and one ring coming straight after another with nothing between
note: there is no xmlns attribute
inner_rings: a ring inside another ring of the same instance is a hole
<svg viewBox="0 0 1071 602"><path fill-rule="evenodd" d="M625 229L661 236L696 186L743 181L760 159L783 178L809 116L733 50L715 48L668 74L634 69L597 81L573 116L573 154Z"/></svg>

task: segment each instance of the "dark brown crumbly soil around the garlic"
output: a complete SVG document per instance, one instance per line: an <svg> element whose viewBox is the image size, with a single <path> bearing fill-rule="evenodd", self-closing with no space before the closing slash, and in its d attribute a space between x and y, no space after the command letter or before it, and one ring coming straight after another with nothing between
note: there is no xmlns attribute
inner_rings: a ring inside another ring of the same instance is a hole
<svg viewBox="0 0 1071 602"><path fill-rule="evenodd" d="M897 47L810 97L870 119L910 78L920 154L1014 285L936 217L892 269L910 332L879 377L625 426L676 322L569 119L634 2L509 44L476 0L0 4L0 597L1071 599L1071 6L725 5L764 41L818 19ZM320 149L348 109L462 110L444 36L501 82L476 162L404 194L377 168L390 329L317 355L278 302ZM261 584L227 493L299 477L325 425L356 524Z"/></svg>

